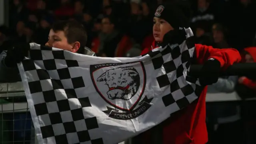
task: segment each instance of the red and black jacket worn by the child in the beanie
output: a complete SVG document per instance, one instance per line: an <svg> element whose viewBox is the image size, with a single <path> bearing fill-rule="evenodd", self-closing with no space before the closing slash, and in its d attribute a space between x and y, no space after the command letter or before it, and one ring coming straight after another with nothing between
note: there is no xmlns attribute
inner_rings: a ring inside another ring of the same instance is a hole
<svg viewBox="0 0 256 144"><path fill-rule="evenodd" d="M151 48L145 48L142 54L157 48L156 42ZM195 44L194 64L204 64L209 58L215 58L222 68L227 68L233 63L240 62L241 57L238 50L233 48L218 49L212 46ZM206 144L208 135L206 130L206 92L207 86L202 90L198 100L192 102L186 108L171 115L170 120L164 124L162 129L162 144ZM142 134L144 144L150 144L150 129Z"/></svg>

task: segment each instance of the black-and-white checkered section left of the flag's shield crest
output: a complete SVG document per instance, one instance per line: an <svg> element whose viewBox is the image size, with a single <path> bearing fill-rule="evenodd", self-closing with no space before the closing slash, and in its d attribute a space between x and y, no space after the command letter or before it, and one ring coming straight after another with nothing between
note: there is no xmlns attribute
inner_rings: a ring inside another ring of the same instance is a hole
<svg viewBox="0 0 256 144"><path fill-rule="evenodd" d="M98 128L97 118L84 116L83 108L92 105L88 96L76 95L76 89L85 84L81 76L70 74L69 68L79 65L76 60L66 60L64 55L70 53L65 52L40 46L30 51L31 59L22 62L24 72L35 76L28 78L28 86L36 116L42 122L39 125L43 141L45 144L103 144L102 138L92 139L88 133Z"/></svg>

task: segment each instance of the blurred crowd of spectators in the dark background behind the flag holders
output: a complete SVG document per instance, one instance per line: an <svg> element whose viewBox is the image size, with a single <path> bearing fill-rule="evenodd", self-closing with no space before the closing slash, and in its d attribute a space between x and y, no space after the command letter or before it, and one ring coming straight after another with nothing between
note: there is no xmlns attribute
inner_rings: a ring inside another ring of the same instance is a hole
<svg viewBox="0 0 256 144"><path fill-rule="evenodd" d="M45 44L56 20L77 20L88 34L87 47L102 57L139 56L150 48L154 37L154 12L166 0L10 0L9 25L0 26L0 49L11 43ZM188 16L197 44L214 48L236 48L243 62L256 61L255 0L180 0L190 6ZM238 92L255 95L255 78L219 78L208 92ZM254 104L252 104L254 105ZM240 104L208 104L209 143L242 141ZM254 109L247 107L248 110ZM251 114L250 114L251 115ZM248 124L252 127L254 115ZM249 128L250 129L250 128ZM248 139L254 139L254 131ZM217 137L217 138L216 138ZM241 138L238 138L241 137ZM224 141L225 139L226 141ZM220 142L222 141L222 142ZM249 140L251 142L251 140Z"/></svg>

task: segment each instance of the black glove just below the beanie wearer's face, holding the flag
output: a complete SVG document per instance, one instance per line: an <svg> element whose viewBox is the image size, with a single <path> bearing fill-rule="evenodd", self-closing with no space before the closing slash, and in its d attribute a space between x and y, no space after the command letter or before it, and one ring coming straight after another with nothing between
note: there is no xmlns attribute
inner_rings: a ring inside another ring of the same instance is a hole
<svg viewBox="0 0 256 144"><path fill-rule="evenodd" d="M184 28L182 29L174 29L170 30L164 35L163 42L160 46L166 46L169 44L182 44L186 40L186 31Z"/></svg>

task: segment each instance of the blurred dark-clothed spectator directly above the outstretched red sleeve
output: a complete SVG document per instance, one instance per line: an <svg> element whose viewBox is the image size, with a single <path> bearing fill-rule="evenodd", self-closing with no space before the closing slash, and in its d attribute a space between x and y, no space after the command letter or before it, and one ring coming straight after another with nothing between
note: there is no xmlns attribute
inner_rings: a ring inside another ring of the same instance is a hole
<svg viewBox="0 0 256 144"><path fill-rule="evenodd" d="M214 39L214 48L230 48L226 41L227 30L221 24L212 26L212 36Z"/></svg>

